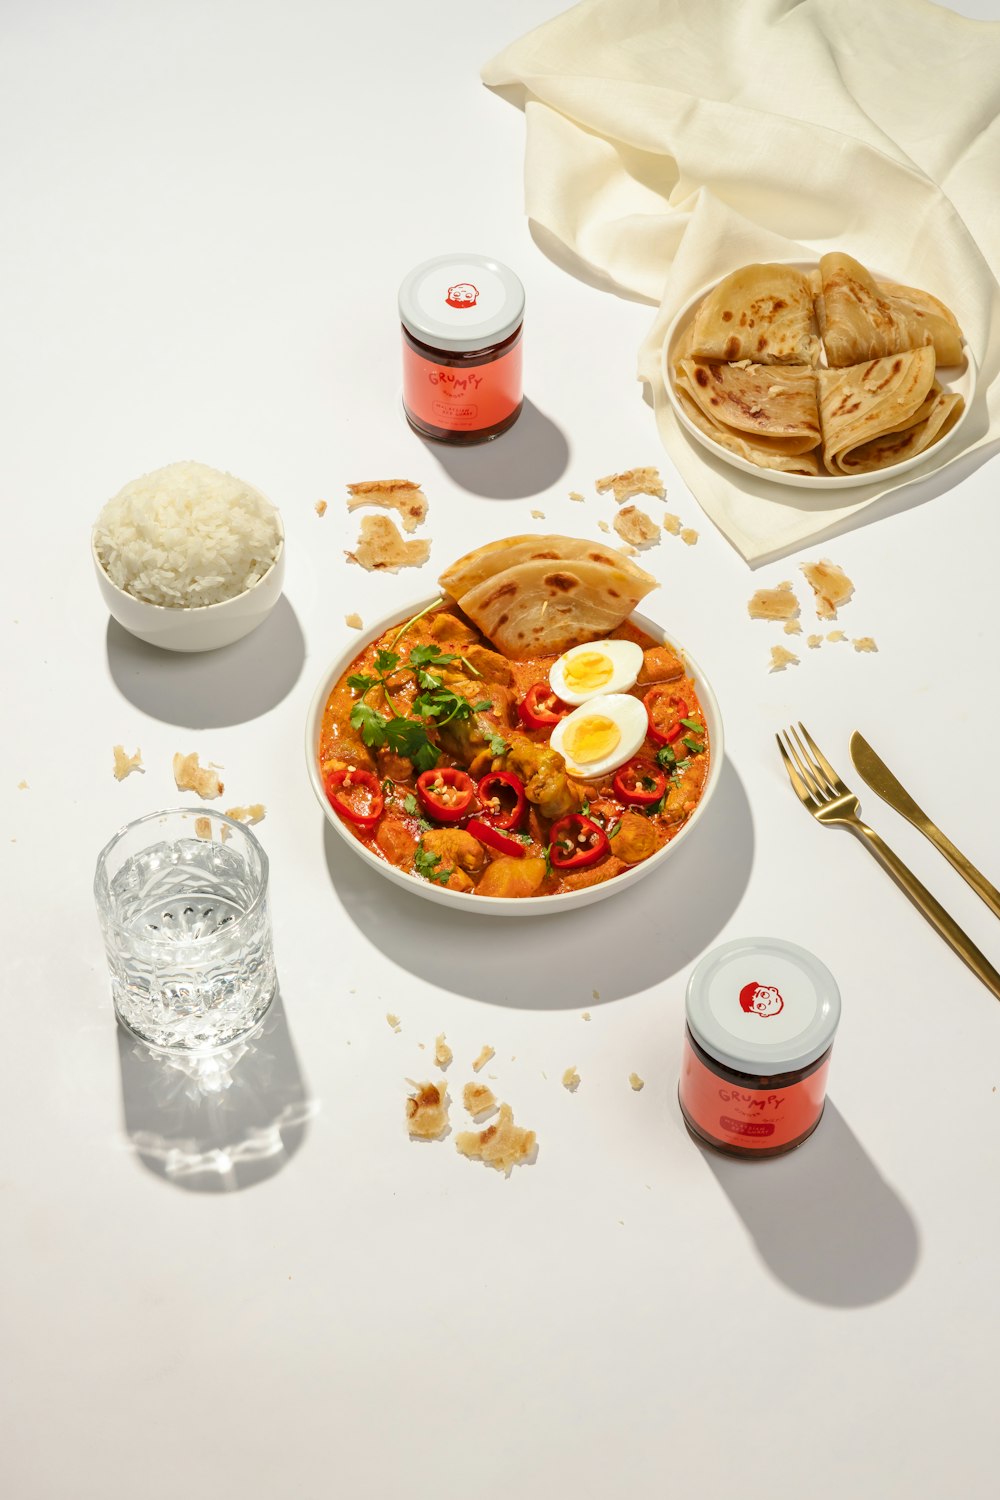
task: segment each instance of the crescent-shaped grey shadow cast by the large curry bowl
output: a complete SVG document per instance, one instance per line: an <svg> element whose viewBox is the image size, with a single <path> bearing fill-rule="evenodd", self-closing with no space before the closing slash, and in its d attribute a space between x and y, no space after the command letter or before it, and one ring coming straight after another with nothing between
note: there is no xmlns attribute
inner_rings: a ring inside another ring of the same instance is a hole
<svg viewBox="0 0 1000 1500"><path fill-rule="evenodd" d="M516 1010L579 1010L594 986L607 1002L685 969L739 904L754 849L747 794L729 760L700 825L661 870L628 896L555 916L436 906L385 880L324 828L333 886L373 946L441 990Z"/></svg>

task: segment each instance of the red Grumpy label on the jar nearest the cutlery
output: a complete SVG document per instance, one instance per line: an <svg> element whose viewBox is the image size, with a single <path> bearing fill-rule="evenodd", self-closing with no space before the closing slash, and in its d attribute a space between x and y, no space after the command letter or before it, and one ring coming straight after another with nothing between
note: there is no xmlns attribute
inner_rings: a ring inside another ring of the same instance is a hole
<svg viewBox="0 0 1000 1500"><path fill-rule="evenodd" d="M826 1098L829 1058L814 1072L781 1089L747 1089L720 1078L684 1041L681 1106L708 1136L736 1150L787 1146L816 1125Z"/></svg>

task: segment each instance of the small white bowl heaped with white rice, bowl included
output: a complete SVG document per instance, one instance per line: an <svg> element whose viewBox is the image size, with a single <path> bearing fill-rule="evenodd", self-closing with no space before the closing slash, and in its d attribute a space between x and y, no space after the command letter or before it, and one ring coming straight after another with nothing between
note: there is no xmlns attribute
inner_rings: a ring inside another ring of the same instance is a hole
<svg viewBox="0 0 1000 1500"><path fill-rule="evenodd" d="M259 489L168 464L103 507L91 552L118 624L168 651L213 651L255 630L285 580L282 519Z"/></svg>

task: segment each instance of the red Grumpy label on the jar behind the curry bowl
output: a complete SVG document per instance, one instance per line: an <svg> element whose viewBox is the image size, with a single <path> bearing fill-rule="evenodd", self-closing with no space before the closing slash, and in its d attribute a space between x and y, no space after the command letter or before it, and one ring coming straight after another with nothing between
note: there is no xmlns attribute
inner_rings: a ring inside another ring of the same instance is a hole
<svg viewBox="0 0 1000 1500"><path fill-rule="evenodd" d="M520 405L520 339L498 360L465 366L433 364L403 339L403 404L429 428L495 428Z"/></svg>

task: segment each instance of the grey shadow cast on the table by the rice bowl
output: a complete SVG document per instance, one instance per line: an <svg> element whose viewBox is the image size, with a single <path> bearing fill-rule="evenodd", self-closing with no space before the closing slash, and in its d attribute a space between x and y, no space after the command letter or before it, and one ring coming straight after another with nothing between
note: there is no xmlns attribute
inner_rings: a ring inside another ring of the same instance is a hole
<svg viewBox="0 0 1000 1500"><path fill-rule="evenodd" d="M108 621L108 668L135 708L165 724L219 729L258 718L294 688L306 642L285 596L256 630L217 651L163 651Z"/></svg>

